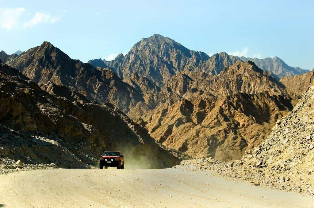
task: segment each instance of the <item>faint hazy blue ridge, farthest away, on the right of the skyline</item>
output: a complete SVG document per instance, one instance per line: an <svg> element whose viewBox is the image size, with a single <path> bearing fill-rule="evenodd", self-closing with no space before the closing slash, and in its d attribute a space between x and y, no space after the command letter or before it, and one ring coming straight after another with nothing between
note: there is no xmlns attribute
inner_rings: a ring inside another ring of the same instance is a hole
<svg viewBox="0 0 314 208"><path fill-rule="evenodd" d="M295 76L298 74L307 73L308 70L301 69L300 67L288 66L283 60L275 56L274 58L246 58L240 57L242 61L253 61L259 68L267 71L269 74L274 74L278 80L281 77Z"/></svg>

